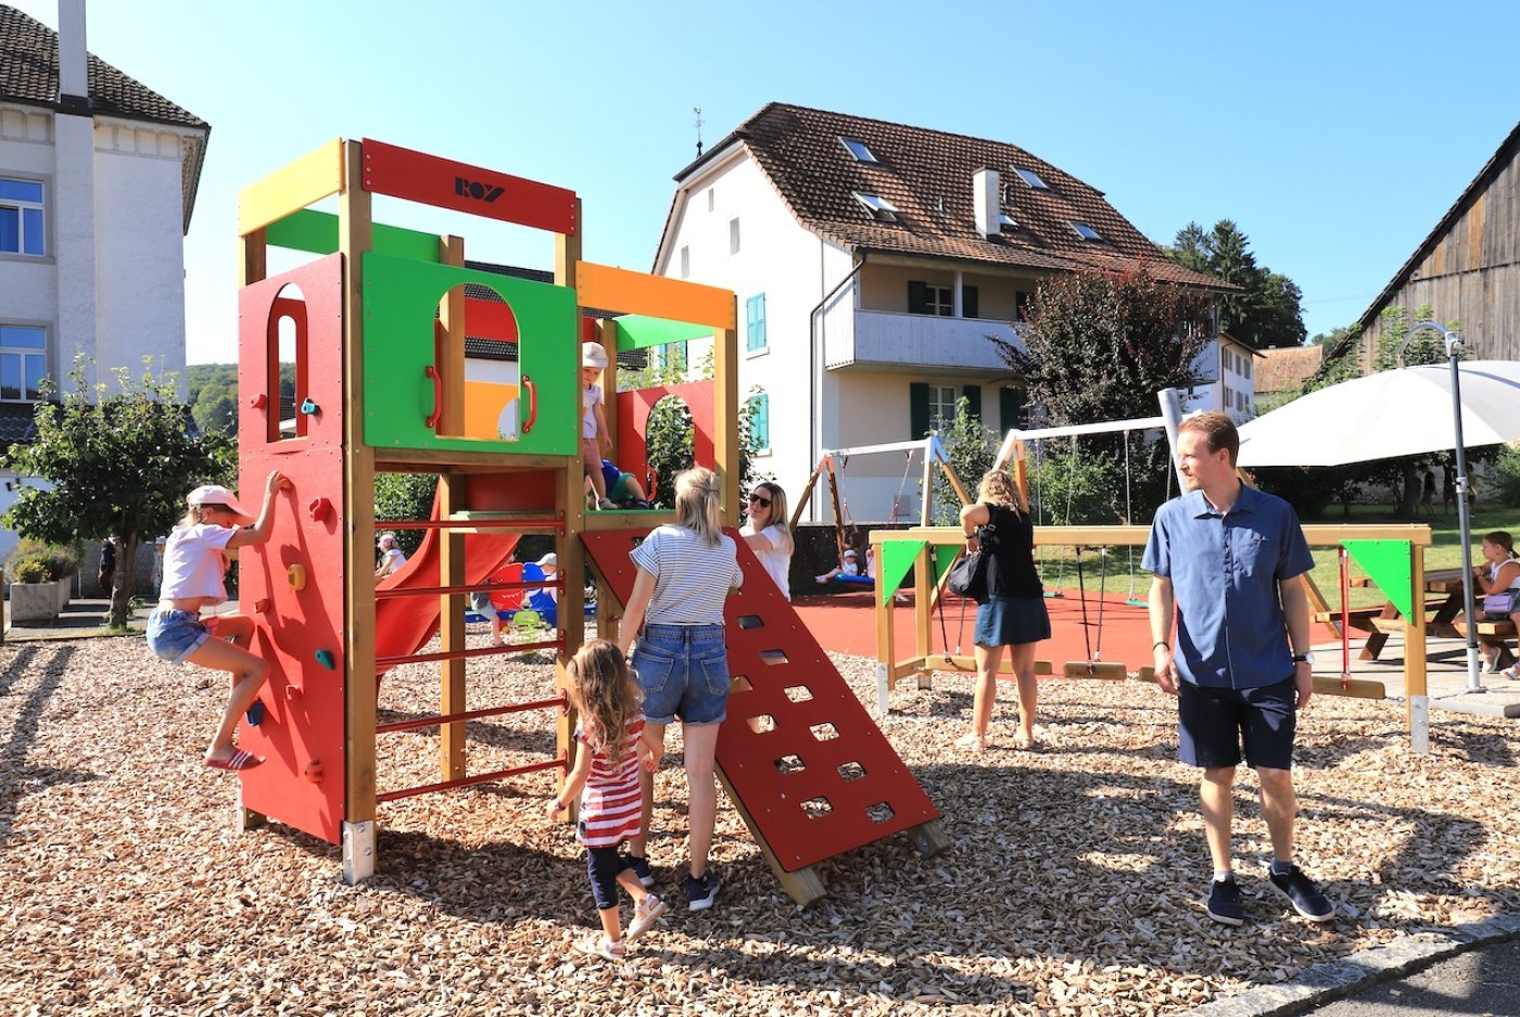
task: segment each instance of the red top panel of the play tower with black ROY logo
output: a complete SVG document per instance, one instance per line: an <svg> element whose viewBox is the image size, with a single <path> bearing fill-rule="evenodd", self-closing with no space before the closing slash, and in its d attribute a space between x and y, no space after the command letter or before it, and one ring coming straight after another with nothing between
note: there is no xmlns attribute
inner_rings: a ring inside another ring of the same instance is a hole
<svg viewBox="0 0 1520 1017"><path fill-rule="evenodd" d="M454 163L426 152L363 140L363 187L424 205L453 208L471 216L515 222L535 230L575 236L576 195L480 166Z"/></svg>

